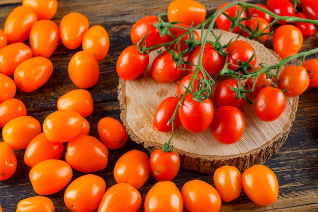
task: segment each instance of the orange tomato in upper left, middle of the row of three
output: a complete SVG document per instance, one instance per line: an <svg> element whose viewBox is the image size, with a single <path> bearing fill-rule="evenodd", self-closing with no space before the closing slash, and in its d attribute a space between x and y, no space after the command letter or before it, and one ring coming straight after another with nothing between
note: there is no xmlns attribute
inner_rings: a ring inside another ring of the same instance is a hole
<svg viewBox="0 0 318 212"><path fill-rule="evenodd" d="M68 49L77 49L82 45L83 37L89 28L87 17L78 12L70 12L59 22L59 34L62 44Z"/></svg>

